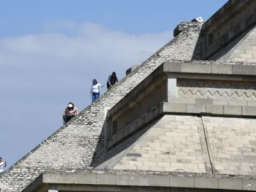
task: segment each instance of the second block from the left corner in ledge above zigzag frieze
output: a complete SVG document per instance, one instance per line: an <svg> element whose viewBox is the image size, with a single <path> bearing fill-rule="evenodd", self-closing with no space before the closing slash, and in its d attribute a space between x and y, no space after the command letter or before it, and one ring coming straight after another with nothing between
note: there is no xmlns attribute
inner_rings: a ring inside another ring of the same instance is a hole
<svg viewBox="0 0 256 192"><path fill-rule="evenodd" d="M212 66L203 63L182 63L180 72L211 74Z"/></svg>

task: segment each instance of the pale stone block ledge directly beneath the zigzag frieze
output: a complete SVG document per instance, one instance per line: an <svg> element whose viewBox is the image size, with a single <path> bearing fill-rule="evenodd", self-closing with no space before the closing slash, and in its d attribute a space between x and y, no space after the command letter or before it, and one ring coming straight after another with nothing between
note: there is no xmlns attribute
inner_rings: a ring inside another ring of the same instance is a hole
<svg viewBox="0 0 256 192"><path fill-rule="evenodd" d="M163 102L164 113L189 113L227 116L256 116L256 106L228 106Z"/></svg>

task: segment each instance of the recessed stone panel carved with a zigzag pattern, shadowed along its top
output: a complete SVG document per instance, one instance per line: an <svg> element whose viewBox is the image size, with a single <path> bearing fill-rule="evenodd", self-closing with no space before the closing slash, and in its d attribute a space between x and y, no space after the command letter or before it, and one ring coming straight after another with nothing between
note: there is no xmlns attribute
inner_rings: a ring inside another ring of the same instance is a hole
<svg viewBox="0 0 256 192"><path fill-rule="evenodd" d="M177 79L181 102L255 106L256 86L246 81Z"/></svg>

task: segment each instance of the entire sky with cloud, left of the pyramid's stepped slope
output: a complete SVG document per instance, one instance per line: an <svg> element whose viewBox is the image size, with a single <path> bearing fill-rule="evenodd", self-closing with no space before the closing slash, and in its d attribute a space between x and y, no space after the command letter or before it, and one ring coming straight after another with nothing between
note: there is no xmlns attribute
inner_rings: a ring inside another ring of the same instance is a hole
<svg viewBox="0 0 256 192"><path fill-rule="evenodd" d="M121 79L171 40L179 22L207 20L226 2L1 2L0 156L8 166L18 161L61 127L68 102L90 104L93 78L106 84L116 71Z"/></svg>

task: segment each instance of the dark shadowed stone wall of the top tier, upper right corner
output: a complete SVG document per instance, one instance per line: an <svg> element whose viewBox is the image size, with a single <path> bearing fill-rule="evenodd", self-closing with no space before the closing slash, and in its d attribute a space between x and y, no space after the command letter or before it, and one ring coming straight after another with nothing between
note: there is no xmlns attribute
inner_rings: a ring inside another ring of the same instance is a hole
<svg viewBox="0 0 256 192"><path fill-rule="evenodd" d="M208 60L256 23L256 1L228 1L203 26L207 35L204 59Z"/></svg>

